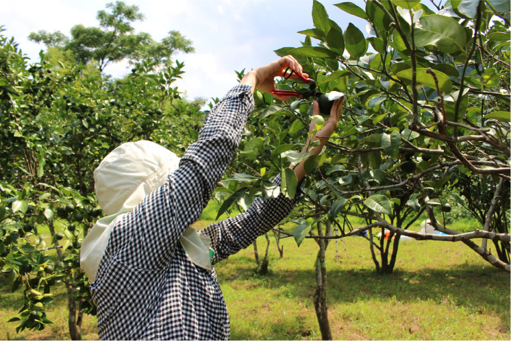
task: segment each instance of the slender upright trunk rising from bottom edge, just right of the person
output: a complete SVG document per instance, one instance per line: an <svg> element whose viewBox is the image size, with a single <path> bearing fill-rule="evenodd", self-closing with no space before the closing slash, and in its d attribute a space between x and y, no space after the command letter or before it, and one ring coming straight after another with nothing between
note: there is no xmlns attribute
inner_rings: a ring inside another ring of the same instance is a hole
<svg viewBox="0 0 511 341"><path fill-rule="evenodd" d="M321 223L318 223L318 234L321 236ZM325 235L329 236L329 222ZM332 340L332 331L328 320L327 306L327 267L325 264L325 253L327 251L327 240L319 240L319 251L316 256L316 292L314 293L314 309L318 318L319 330L323 340Z"/></svg>

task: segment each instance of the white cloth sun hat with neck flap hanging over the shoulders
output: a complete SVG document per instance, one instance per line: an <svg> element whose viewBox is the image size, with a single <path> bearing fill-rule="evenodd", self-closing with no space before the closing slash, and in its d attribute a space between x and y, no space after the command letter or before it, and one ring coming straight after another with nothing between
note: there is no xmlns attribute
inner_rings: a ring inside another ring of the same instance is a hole
<svg viewBox="0 0 511 341"><path fill-rule="evenodd" d="M179 157L159 144L140 140L127 142L108 154L94 171L96 196L106 216L87 234L80 250L80 264L92 283L108 238L123 214L131 212L147 194L162 186L179 166ZM192 262L211 268L207 236L188 227L181 238Z"/></svg>

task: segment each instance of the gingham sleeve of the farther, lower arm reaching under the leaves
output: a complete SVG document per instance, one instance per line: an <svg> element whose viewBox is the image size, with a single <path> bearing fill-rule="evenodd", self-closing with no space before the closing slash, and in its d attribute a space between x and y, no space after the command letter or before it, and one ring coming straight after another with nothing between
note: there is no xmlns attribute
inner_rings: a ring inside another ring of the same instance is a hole
<svg viewBox="0 0 511 341"><path fill-rule="evenodd" d="M280 175L275 177L273 184L280 184ZM211 248L215 253L212 264L249 247L258 236L286 218L300 198L301 192L297 192L295 199L286 198L282 193L275 199L259 197L246 212L199 231L211 238Z"/></svg>

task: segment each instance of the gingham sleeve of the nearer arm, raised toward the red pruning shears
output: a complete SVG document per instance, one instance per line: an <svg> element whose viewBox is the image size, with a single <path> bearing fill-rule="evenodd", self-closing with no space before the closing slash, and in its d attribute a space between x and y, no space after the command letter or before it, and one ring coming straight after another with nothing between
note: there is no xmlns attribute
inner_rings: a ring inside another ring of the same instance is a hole
<svg viewBox="0 0 511 341"><path fill-rule="evenodd" d="M151 270L168 264L183 231L201 216L231 161L252 109L250 86L235 86L223 97L166 184L114 228L110 255L132 268Z"/></svg>

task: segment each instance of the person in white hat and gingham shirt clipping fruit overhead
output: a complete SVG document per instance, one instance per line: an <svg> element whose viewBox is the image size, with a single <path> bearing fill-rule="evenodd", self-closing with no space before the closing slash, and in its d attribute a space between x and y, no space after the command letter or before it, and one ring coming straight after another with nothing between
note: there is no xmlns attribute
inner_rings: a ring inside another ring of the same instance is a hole
<svg viewBox="0 0 511 341"><path fill-rule="evenodd" d="M291 56L245 75L213 108L199 140L180 160L158 144L138 141L122 144L99 164L95 189L107 216L88 233L80 260L92 282L101 339L229 339L229 316L213 265L277 225L297 198L257 199L246 212L199 232L190 225L238 147L255 88L271 93L274 77L288 67L295 77L307 76ZM341 110L339 99L316 131L321 138L314 140L320 143L310 155L321 153ZM314 114L319 114L316 102ZM301 181L303 162L294 170ZM273 182L279 184L280 177Z"/></svg>

